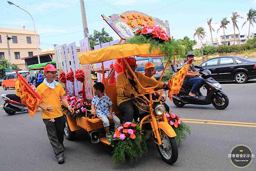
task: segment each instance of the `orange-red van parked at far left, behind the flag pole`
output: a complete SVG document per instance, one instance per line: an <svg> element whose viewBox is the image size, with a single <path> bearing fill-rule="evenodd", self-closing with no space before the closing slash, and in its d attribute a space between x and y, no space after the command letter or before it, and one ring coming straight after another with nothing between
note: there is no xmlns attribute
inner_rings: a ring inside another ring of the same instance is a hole
<svg viewBox="0 0 256 171"><path fill-rule="evenodd" d="M27 71L19 71L20 75L22 75L25 80L26 80L26 72ZM18 81L18 76L16 72L10 72L6 74L5 78L3 78L3 81L2 81L3 90L7 90L8 88L14 88L16 81Z"/></svg>

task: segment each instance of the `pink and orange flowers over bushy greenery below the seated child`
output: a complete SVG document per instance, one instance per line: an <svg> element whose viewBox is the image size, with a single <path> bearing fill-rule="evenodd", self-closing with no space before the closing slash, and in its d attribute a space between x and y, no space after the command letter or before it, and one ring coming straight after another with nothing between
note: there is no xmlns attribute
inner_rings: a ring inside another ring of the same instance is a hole
<svg viewBox="0 0 256 171"><path fill-rule="evenodd" d="M115 131L109 135L111 145L114 146L113 164L125 162L125 156L131 162L137 160L147 150L140 125L135 122L125 122L115 127Z"/></svg>

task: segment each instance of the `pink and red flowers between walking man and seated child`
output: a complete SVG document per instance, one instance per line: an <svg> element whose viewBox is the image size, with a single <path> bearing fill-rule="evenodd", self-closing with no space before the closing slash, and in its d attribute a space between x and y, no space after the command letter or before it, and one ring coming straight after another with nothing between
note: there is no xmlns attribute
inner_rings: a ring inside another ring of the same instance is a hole
<svg viewBox="0 0 256 171"><path fill-rule="evenodd" d="M69 110L67 110L67 115L70 117L80 119L81 117L85 116L86 110L91 110L91 103L87 100L80 99L79 97L76 97L76 96L70 97L69 95L66 96L66 99L70 104L70 107L74 109L74 113L71 113ZM67 109L67 107L65 107L62 104L62 109L65 110Z"/></svg>

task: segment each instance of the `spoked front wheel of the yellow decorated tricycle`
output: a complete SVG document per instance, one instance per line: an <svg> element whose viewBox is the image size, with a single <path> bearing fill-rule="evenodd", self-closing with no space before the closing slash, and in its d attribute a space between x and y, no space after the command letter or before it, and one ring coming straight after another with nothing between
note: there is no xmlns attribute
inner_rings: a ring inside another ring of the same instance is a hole
<svg viewBox="0 0 256 171"><path fill-rule="evenodd" d="M157 149L163 161L172 165L178 159L178 146L175 137L169 137L161 130L162 145L157 145Z"/></svg>

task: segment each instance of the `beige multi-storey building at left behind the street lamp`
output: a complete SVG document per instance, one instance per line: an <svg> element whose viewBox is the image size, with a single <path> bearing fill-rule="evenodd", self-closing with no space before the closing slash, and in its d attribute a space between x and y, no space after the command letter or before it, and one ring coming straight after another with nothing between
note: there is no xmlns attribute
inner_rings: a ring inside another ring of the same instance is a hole
<svg viewBox="0 0 256 171"><path fill-rule="evenodd" d="M21 60L23 57L37 55L35 34L38 41L38 52L41 54L39 35L34 30L23 29L9 29L0 27L0 59L6 58L9 61L7 36L9 40L11 63L16 64L20 69L25 70L25 61Z"/></svg>

